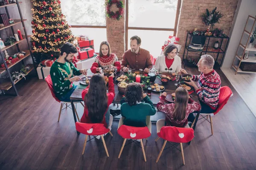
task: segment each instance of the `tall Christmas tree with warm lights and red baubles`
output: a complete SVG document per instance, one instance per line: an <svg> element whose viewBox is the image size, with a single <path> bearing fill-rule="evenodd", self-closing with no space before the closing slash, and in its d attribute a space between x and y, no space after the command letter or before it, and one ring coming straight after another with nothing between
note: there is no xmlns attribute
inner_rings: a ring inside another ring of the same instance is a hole
<svg viewBox="0 0 256 170"><path fill-rule="evenodd" d="M32 36L37 62L58 58L65 42L73 42L74 36L61 13L60 0L32 0Z"/></svg>

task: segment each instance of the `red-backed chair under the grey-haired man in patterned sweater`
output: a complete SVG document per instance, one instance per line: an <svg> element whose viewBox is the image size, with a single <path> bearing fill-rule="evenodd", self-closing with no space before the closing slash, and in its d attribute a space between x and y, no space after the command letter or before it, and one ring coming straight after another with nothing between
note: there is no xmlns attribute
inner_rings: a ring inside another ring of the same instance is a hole
<svg viewBox="0 0 256 170"><path fill-rule="evenodd" d="M210 122L209 121L208 122L211 124L212 135L213 135L212 116L217 114L224 107L224 105L227 104L227 101L231 96L233 96L233 93L229 87L227 86L221 87L220 94L219 94L218 108L216 109L216 111L214 113L200 113L200 115L202 116L201 119L206 119L208 121L208 116L210 117ZM206 115L206 116L203 116L203 115ZM193 127L194 123L195 123L195 120L192 123L191 127Z"/></svg>

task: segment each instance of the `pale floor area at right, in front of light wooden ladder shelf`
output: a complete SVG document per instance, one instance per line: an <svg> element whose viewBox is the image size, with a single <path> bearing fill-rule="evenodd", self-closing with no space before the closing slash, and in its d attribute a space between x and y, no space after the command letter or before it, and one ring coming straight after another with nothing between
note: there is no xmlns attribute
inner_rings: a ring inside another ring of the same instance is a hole
<svg viewBox="0 0 256 170"><path fill-rule="evenodd" d="M221 68L227 79L231 82L233 87L244 99L244 102L256 116L256 74L255 73L236 73L232 68Z"/></svg>

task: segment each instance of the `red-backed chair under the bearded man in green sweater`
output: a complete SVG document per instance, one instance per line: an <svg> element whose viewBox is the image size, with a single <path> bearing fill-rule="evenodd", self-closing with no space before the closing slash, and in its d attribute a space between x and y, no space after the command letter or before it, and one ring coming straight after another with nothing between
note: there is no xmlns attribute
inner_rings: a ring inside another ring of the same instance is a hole
<svg viewBox="0 0 256 170"><path fill-rule="evenodd" d="M59 111L59 116L58 116L58 122L60 121L60 117L61 117L61 111L63 110L63 106L66 105L66 108L69 107L71 105L71 102L63 102L61 101L60 99L58 99L56 96L55 96L55 93L54 93L54 89L53 89L53 85L52 85L52 79L51 79L51 75L48 75L47 77L45 77L45 81L47 82L47 85L52 93L52 97L57 101L57 102L60 102L61 103L61 108L60 108L60 111ZM84 107L84 104L82 102L73 102L74 104L76 103L81 103L81 105ZM70 108L70 107L69 107ZM72 109L72 108L70 108ZM78 122L80 122L80 119L79 119L79 116L77 114L77 111L76 111L76 107L74 106L74 109L75 109L75 112L76 112L76 117L78 119Z"/></svg>

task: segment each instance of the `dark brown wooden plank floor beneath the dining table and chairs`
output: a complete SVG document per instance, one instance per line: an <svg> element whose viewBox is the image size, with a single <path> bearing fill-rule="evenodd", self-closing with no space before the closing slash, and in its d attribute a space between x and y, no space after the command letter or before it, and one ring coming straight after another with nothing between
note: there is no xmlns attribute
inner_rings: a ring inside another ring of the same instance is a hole
<svg viewBox="0 0 256 170"><path fill-rule="evenodd" d="M193 70L196 72L196 69ZM197 71L198 73L198 71ZM214 134L208 122L200 120L191 144L183 144L186 165L175 148L163 151L155 163L163 140L152 136L144 141L147 162L136 144L125 146L118 159L123 139L117 134L118 122L112 125L113 137L106 136L110 157L103 144L93 139L86 145L85 135L76 133L73 114L64 109L58 120L60 104L44 80L35 77L18 83L20 96L0 96L0 169L1 170L253 170L256 169L256 118L220 73L222 85L233 91L227 105L213 117ZM77 105L79 116L83 110ZM161 118L161 114L157 114ZM163 116L163 115L162 115ZM168 147L167 144L166 147ZM178 147L179 148L179 147Z"/></svg>

